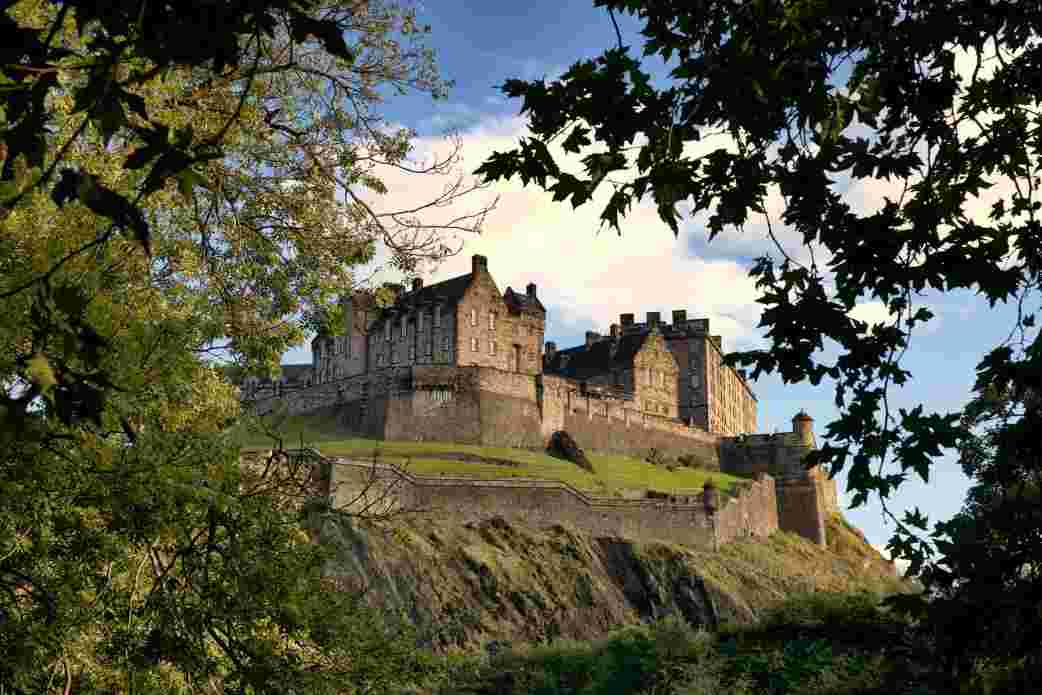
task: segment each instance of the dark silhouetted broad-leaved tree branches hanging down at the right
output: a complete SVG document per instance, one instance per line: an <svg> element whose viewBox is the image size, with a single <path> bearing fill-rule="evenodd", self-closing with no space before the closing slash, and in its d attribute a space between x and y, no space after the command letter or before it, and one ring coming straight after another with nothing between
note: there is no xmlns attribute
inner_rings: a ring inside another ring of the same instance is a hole
<svg viewBox="0 0 1042 695"><path fill-rule="evenodd" d="M667 86L653 85L621 32L616 48L557 80L507 79L501 89L523 100L531 134L477 173L489 181L519 176L573 206L606 188L601 220L619 233L626 210L645 197L674 234L681 205L690 215L710 213L712 240L766 217L767 195L780 194L783 222L807 252L788 253L767 219L765 252L750 275L770 345L729 362L752 366L753 378L776 370L786 382L833 380L840 416L807 463L826 464L833 475L848 468L854 505L878 495L890 516L887 497L910 472L927 480L943 450L982 443L974 417L961 423L959 413L890 407L889 387L911 377L901 357L913 330L932 318L921 294L972 289L992 305L1015 300L1021 311L1011 340L984 356L977 387L981 397L994 389L1017 394L1022 407L1003 426L1006 439L984 448L992 463L1004 462L999 468L1017 467L1013 478L996 479L997 489L1037 475L1037 452L1008 445L1032 431L1038 403L1025 394L1040 386L1042 7L970 0L594 5L613 22L619 11L643 23L643 54L667 61ZM957 68L960 56L968 70ZM709 147L717 134L727 143ZM581 156L580 174L554 158L554 142ZM900 194L859 214L837 191L839 177L896 181ZM988 189L997 195L987 219L971 217L967 202ZM892 322L868 331L850 318L865 299L883 302ZM822 354L825 339L839 348L835 359ZM914 511L895 521L890 548L917 573L933 550L916 532L926 519ZM989 533L997 544L990 547L1011 561L1026 540L1014 527ZM950 543L940 549L952 551Z"/></svg>

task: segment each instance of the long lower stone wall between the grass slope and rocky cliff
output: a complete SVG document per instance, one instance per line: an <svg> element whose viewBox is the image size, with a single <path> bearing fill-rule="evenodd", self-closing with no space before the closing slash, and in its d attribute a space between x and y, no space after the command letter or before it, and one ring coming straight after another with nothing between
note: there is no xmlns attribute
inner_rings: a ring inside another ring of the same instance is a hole
<svg viewBox="0 0 1042 695"><path fill-rule="evenodd" d="M592 497L552 480L418 476L348 460L333 460L331 486L334 503L354 512L408 510L461 522L501 516L537 528L568 523L595 536L698 548L766 537L777 529L777 516L770 511L774 485L768 476L750 483L716 512L703 503Z"/></svg>

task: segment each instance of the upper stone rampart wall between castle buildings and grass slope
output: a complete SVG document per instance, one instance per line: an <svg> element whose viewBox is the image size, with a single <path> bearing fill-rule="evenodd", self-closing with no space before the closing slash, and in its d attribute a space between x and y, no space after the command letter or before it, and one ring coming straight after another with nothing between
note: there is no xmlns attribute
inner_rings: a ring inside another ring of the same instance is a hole
<svg viewBox="0 0 1042 695"><path fill-rule="evenodd" d="M643 413L624 394L492 367L389 368L252 403L260 415L283 404L291 415L336 412L346 431L376 439L542 448L565 429L588 449L643 456L656 448L719 465L720 436Z"/></svg>

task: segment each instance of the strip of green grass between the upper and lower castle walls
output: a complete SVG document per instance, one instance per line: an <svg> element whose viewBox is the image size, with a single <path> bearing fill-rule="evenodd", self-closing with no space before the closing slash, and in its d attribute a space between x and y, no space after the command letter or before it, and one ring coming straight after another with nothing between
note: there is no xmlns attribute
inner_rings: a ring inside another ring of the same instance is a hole
<svg viewBox="0 0 1042 695"><path fill-rule="evenodd" d="M596 451L587 452L595 471L588 473L542 451L449 442L391 442L352 438L345 436L332 416L292 416L281 423L279 429L283 445L289 448L299 446L302 436L305 446L313 446L327 456L370 458L374 450L378 450L382 461L407 464L407 469L417 475L561 480L595 495L621 495L627 491L639 493L644 490L692 494L700 491L708 479L712 479L719 490L728 492L741 479L725 473L683 467L669 471L663 466L652 466L640 458ZM245 425L233 431L232 437L247 449L267 449L272 443L271 439L251 431ZM439 453L465 453L482 458L504 460L516 465L439 458Z"/></svg>

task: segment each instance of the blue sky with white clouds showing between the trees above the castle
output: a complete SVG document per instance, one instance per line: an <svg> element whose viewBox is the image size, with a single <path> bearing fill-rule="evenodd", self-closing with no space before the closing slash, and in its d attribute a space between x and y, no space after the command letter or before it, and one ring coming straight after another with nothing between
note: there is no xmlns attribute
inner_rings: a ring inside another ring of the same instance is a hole
<svg viewBox="0 0 1042 695"><path fill-rule="evenodd" d="M473 179L472 172L493 151L513 149L526 134L525 119L518 115L520 101L506 99L498 84L512 77L552 79L575 60L595 57L616 45L606 11L594 8L591 0L442 0L417 5L417 14L421 24L431 26L428 45L436 51L442 76L454 80L455 86L440 102L427 95L389 95L379 110L392 123L416 130L413 156L417 162L447 152L445 133L455 129L463 145L458 173L467 180ZM618 20L623 43L639 54L638 23L628 16ZM645 60L654 74L665 74L653 58ZM718 146L712 141L709 145ZM561 155L560 150L555 153ZM577 165L574 169L579 171ZM450 182L393 171L386 172L383 180L388 194L370 201L383 210L430 200ZM837 184L855 209L866 213L882 205L885 195L897 192L884 181L854 185L840 180ZM449 209L433 210L432 221L474 209L498 195L496 208L486 219L480 235L456 237L462 244L456 256L426 269L427 283L469 272L471 255L483 254L501 291L507 286L521 289L528 282L538 286L547 308L546 340L559 348L581 343L586 330L606 332L619 314L634 313L641 320L647 312L661 312L666 318L675 308L687 309L689 318L709 318L712 331L723 337L725 350L766 345L758 328L756 292L747 276L753 258L768 251L765 225L750 224L744 234L725 232L709 243L706 217L685 216L680 233L674 238L653 205L642 203L631 208L619 237L599 229L603 195L577 209L553 202L549 194L524 188L520 181L499 182L471 195ZM987 204L982 200L977 207L985 210ZM805 257L805 250L779 222L782 208L778 195L768 198L768 213L774 229L780 229L783 245L796 257ZM377 277L399 279L393 273ZM927 412L956 411L970 396L974 367L982 355L1009 332L1013 309L992 308L971 292L925 294L916 301L936 318L914 337L903 362L914 378L892 391L893 400L903 407L921 402ZM871 302L859 306L854 316L870 322L887 319L884 307ZM289 364L309 362L306 347L283 358ZM814 418L821 444L825 424L838 416L828 381L817 387L784 384L776 375L764 375L753 390L763 432L791 429L791 418L803 408ZM842 498L845 472L838 480ZM968 486L958 464L947 456L932 469L928 483L910 480L888 505L898 517L917 506L933 523L960 510ZM876 546L885 545L893 532L877 501L844 514Z"/></svg>

